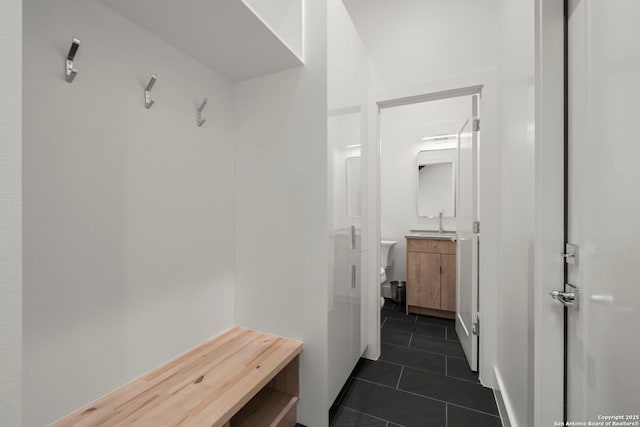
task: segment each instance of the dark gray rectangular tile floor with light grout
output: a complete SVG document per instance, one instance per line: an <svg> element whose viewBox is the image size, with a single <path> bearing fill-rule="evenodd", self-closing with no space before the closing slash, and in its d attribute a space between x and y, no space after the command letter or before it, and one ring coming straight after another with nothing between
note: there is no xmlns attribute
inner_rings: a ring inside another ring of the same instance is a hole
<svg viewBox="0 0 640 427"><path fill-rule="evenodd" d="M331 427L501 427L493 391L471 372L453 320L382 309L382 355L362 359Z"/></svg>

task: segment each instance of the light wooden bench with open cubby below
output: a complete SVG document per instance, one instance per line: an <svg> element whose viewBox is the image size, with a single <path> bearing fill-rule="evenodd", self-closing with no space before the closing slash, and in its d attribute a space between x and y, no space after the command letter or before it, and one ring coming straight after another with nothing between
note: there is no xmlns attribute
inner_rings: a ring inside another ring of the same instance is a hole
<svg viewBox="0 0 640 427"><path fill-rule="evenodd" d="M293 427L301 350L232 328L53 426Z"/></svg>

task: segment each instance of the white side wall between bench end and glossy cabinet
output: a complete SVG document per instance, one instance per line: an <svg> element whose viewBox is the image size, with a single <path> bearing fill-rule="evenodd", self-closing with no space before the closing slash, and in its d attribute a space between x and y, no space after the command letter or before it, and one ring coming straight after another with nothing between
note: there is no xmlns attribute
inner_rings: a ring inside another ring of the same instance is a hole
<svg viewBox="0 0 640 427"><path fill-rule="evenodd" d="M326 4L305 65L236 89L236 323L304 341L298 420L327 425ZM222 205L221 205L222 206Z"/></svg>

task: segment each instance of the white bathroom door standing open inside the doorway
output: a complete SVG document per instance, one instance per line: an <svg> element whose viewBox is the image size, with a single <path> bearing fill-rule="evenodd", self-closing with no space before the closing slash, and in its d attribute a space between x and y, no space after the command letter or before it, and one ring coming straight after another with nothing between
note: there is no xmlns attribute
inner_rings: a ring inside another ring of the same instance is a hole
<svg viewBox="0 0 640 427"><path fill-rule="evenodd" d="M456 332L472 371L478 370L478 96L472 99L472 115L458 135L458 185L456 197L457 274Z"/></svg>

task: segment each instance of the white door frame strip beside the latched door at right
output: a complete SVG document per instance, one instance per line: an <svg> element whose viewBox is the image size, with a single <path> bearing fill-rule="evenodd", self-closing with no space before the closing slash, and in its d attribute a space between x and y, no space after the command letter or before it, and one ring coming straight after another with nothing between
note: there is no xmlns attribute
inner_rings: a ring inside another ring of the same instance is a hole
<svg viewBox="0 0 640 427"><path fill-rule="evenodd" d="M535 243L533 419L563 421L564 310L549 296L563 289L565 263L564 2L535 2ZM511 417L510 417L511 418ZM513 419L513 418L512 418Z"/></svg>

